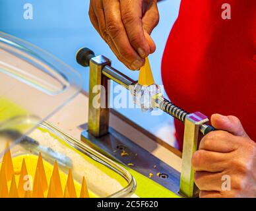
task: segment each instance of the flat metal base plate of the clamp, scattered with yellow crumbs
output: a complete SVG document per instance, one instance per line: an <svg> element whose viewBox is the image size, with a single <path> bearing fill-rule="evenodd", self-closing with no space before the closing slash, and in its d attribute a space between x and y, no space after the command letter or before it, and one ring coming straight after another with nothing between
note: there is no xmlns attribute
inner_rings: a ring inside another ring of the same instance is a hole
<svg viewBox="0 0 256 211"><path fill-rule="evenodd" d="M152 173L151 179L153 181L179 195L180 173L112 127L109 128L108 135L100 138L90 135L87 130L83 131L81 139L112 160L125 166L133 164L129 167L146 177Z"/></svg>

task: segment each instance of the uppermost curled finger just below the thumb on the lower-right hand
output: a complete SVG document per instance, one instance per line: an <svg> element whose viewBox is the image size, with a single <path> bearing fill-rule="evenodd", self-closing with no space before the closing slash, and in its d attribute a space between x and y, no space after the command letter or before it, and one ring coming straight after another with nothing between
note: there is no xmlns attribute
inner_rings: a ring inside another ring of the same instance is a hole
<svg viewBox="0 0 256 211"><path fill-rule="evenodd" d="M238 148L238 137L226 131L212 131L203 136L199 150L228 153Z"/></svg>

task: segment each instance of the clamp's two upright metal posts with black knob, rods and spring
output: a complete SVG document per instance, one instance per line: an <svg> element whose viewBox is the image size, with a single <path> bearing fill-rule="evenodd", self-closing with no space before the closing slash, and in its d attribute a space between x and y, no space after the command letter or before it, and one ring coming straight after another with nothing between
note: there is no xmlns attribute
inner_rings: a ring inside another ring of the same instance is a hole
<svg viewBox="0 0 256 211"><path fill-rule="evenodd" d="M78 51L77 62L84 67L90 66L88 134L84 132L82 136L86 137L85 140L93 139L94 142L100 144L100 140L104 140L104 136L110 136L110 130L112 133L114 132L113 129L109 129L110 109L108 106L108 91L110 89L108 80L113 80L117 82L117 84L130 90L131 87L137 84L137 81L132 80L111 67L110 59L102 55L95 56L94 52L88 48L83 48ZM100 98L98 98L100 106L94 105L94 98L96 96L100 96ZM187 111L184 111L163 98L162 94L159 92L150 96L150 98L151 106L162 109L162 111L179 119L179 121L183 122L185 125L179 190L172 189L172 191L177 192L177 194L181 196L196 197L198 196L198 190L194 183L195 171L193 170L191 162L192 156L198 148L201 136L206 135L210 131L214 131L214 128L207 125L208 118L202 113L187 113ZM121 135L119 135L119 137L120 136ZM104 147L104 149L106 151L107 148ZM173 181L175 181L175 179ZM166 183L163 184L164 186L166 185Z"/></svg>

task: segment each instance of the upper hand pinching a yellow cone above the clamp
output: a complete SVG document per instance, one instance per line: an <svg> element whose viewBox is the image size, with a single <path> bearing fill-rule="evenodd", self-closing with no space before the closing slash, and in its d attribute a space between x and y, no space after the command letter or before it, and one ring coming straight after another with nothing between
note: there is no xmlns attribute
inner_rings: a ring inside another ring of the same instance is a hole
<svg viewBox="0 0 256 211"><path fill-rule="evenodd" d="M137 70L156 49L157 0L90 0L90 20L117 58Z"/></svg>

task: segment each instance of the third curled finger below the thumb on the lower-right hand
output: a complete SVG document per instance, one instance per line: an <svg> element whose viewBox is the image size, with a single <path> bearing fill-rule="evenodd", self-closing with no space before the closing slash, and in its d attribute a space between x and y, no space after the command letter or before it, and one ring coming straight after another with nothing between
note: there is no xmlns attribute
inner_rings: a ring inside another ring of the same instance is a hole
<svg viewBox="0 0 256 211"><path fill-rule="evenodd" d="M201 191L222 191L222 174L197 171L195 173L195 184Z"/></svg>

